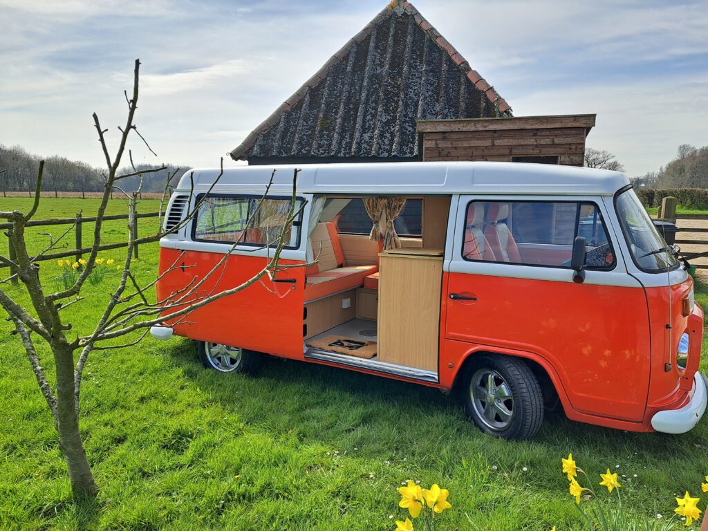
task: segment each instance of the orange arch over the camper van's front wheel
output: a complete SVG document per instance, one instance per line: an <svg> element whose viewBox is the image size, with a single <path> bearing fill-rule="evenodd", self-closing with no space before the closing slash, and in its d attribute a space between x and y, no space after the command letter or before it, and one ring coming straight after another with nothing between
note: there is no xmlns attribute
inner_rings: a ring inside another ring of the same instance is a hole
<svg viewBox="0 0 708 531"><path fill-rule="evenodd" d="M469 370L469 365L474 362L476 358L480 355L498 355L498 356L508 356L513 358L521 358L533 372L537 378L541 390L544 394L544 402L548 399L554 399L557 397L561 406L563 407L564 413L568 413L569 409L572 409L568 395L565 392L561 379L554 370L553 366L536 353L526 352L524 350L510 350L506 348L471 348L459 365L459 370L455 374L455 379L452 383L452 389L455 391L459 390L464 375Z"/></svg>

